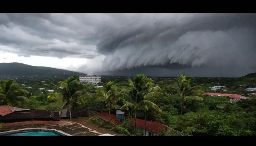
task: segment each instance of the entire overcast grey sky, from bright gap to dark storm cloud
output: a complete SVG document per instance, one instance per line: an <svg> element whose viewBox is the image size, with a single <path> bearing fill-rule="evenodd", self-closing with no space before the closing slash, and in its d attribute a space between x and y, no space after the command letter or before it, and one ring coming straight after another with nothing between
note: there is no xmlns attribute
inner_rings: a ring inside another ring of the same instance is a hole
<svg viewBox="0 0 256 146"><path fill-rule="evenodd" d="M0 14L0 63L89 74L256 72L255 14Z"/></svg>

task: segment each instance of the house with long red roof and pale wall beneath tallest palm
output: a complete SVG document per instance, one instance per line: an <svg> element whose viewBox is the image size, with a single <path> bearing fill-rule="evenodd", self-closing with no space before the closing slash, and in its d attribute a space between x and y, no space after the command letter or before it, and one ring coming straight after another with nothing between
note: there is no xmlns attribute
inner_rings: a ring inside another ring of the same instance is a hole
<svg viewBox="0 0 256 146"><path fill-rule="evenodd" d="M135 118L130 118L130 121L131 126L135 126ZM145 132L146 127L146 136L158 136L161 135L162 131L166 130L167 126L157 122L136 119L136 127L142 132Z"/></svg>

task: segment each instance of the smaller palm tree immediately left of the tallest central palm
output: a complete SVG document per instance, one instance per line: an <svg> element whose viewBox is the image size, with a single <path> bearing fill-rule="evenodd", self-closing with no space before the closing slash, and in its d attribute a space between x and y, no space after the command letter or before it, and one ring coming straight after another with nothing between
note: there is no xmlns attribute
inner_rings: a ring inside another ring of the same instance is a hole
<svg viewBox="0 0 256 146"><path fill-rule="evenodd" d="M98 101L104 101L109 108L109 113L111 109L114 108L115 100L119 97L119 92L113 87L113 82L109 81L103 85L102 89L96 89L96 96ZM100 95L100 96L99 96Z"/></svg>

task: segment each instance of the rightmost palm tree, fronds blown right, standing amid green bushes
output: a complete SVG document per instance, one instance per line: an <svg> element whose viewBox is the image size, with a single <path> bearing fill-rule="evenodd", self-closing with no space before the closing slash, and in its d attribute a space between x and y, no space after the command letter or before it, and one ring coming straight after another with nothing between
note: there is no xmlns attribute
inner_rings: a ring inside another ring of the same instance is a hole
<svg viewBox="0 0 256 146"><path fill-rule="evenodd" d="M184 74L178 76L178 78L174 81L175 86L179 97L181 97L181 115L183 111L183 103L187 100L203 100L203 91L200 85L191 87L190 81L192 77L187 77Z"/></svg>

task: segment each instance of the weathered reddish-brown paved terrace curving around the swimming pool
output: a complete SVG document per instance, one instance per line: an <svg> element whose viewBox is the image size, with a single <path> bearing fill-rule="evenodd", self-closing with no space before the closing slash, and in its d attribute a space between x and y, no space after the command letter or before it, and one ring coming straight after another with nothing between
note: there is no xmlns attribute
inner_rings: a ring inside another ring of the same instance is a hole
<svg viewBox="0 0 256 146"><path fill-rule="evenodd" d="M72 136L98 136L102 133L93 131L90 128L83 126L82 124L72 122L72 121L32 121L25 122L15 122L15 123L3 123L3 128L0 129L0 132L17 130L24 128L47 128L47 129L56 129L61 130Z"/></svg>

